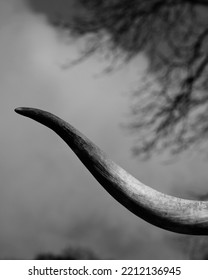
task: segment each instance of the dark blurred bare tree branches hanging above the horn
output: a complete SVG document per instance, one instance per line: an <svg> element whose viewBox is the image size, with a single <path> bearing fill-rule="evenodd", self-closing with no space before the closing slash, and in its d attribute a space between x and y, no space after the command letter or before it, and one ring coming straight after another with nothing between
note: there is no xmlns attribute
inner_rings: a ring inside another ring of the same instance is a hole
<svg viewBox="0 0 208 280"><path fill-rule="evenodd" d="M86 38L82 58L113 57L111 70L143 53L149 60L133 94L135 155L178 154L208 134L208 1L77 0L69 20L54 26Z"/></svg>

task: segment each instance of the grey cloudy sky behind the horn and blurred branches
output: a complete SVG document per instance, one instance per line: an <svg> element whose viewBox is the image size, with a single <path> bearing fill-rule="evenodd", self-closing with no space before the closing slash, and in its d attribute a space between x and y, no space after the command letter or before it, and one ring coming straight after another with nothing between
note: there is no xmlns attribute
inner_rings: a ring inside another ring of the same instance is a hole
<svg viewBox="0 0 208 280"><path fill-rule="evenodd" d="M133 139L121 124L145 57L107 75L98 56L64 67L83 41L66 40L48 17L70 16L69 2L0 0L0 259L33 259L70 246L100 258L187 258L175 245L177 234L134 216L52 131L14 112L29 106L58 115L157 190L206 190L207 163L198 155L169 165L131 155Z"/></svg>

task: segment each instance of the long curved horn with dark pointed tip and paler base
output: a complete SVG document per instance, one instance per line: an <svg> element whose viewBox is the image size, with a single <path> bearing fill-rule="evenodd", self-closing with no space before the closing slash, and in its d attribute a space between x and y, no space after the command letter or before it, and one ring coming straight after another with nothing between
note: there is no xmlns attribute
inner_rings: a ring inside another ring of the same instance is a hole
<svg viewBox="0 0 208 280"><path fill-rule="evenodd" d="M169 196L145 186L73 126L49 112L34 108L15 111L56 132L104 189L138 217L169 231L208 235L208 202Z"/></svg>

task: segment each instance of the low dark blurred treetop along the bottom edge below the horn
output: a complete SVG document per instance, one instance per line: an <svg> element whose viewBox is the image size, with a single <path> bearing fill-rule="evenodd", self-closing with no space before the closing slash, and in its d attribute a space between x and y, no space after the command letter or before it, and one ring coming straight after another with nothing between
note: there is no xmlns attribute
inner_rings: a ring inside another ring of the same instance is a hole
<svg viewBox="0 0 208 280"><path fill-rule="evenodd" d="M98 260L98 256L86 248L70 247L60 254L40 253L35 257L36 260Z"/></svg>

